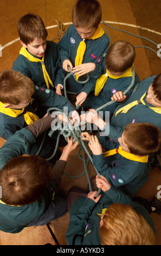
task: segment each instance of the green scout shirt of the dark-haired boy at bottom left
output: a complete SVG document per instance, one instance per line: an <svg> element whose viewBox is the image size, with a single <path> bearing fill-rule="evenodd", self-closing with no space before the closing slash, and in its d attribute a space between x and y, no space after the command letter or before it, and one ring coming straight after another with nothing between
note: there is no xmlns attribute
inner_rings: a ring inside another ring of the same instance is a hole
<svg viewBox="0 0 161 256"><path fill-rule="evenodd" d="M0 169L12 158L25 154L30 143L34 142L35 137L28 129L23 128L17 131L0 149ZM51 180L43 196L32 204L11 206L0 201L0 230L8 233L22 231L24 227L46 212L51 200L54 198L55 191L56 185Z"/></svg>

